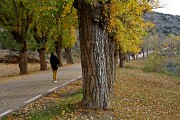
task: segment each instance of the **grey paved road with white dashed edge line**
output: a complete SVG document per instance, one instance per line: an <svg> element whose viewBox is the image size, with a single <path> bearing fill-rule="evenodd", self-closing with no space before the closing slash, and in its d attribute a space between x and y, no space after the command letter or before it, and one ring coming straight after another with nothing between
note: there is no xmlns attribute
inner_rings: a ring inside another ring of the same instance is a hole
<svg viewBox="0 0 180 120"><path fill-rule="evenodd" d="M74 64L59 68L57 83L52 82L50 70L0 82L0 118L81 75L80 64Z"/></svg>

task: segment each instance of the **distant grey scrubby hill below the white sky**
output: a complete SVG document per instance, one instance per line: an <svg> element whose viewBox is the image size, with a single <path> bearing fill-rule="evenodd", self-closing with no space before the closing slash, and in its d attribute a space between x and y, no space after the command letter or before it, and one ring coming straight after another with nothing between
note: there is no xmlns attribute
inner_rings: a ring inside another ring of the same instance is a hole
<svg viewBox="0 0 180 120"><path fill-rule="evenodd" d="M153 22L158 33L180 35L180 16L158 12L146 13L145 20Z"/></svg>

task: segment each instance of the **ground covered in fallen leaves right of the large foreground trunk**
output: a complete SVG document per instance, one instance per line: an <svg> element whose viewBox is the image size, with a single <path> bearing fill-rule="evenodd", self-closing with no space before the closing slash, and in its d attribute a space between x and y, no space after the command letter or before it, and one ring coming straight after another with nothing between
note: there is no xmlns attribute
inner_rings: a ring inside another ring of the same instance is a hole
<svg viewBox="0 0 180 120"><path fill-rule="evenodd" d="M134 69L118 70L112 96L114 115L118 119L179 119L178 77L145 73L137 66L141 62L131 62Z"/></svg>

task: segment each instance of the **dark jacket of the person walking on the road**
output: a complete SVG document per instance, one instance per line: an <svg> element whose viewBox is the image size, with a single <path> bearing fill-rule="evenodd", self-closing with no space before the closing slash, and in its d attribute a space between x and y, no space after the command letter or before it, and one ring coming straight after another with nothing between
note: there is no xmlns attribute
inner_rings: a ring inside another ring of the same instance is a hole
<svg viewBox="0 0 180 120"><path fill-rule="evenodd" d="M50 63L51 63L51 68L53 70L58 69L58 65L59 65L60 62L59 62L58 58L53 53L51 53Z"/></svg>

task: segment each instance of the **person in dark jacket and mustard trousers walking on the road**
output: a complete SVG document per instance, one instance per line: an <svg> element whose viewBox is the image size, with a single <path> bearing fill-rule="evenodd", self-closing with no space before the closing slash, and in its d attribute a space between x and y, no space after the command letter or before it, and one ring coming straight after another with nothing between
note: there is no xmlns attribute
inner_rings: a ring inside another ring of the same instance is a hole
<svg viewBox="0 0 180 120"><path fill-rule="evenodd" d="M57 70L60 62L53 52L51 52L50 63L53 71L53 82L57 82Z"/></svg>

